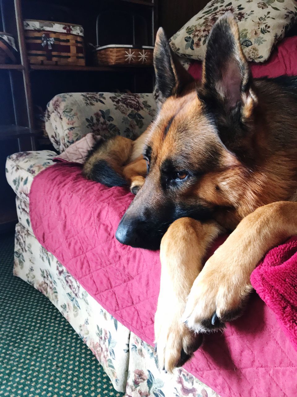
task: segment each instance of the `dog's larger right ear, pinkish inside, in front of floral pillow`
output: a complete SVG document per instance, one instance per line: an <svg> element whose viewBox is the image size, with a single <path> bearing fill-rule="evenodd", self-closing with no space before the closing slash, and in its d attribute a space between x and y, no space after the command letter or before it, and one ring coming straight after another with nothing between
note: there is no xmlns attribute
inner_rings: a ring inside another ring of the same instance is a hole
<svg viewBox="0 0 297 397"><path fill-rule="evenodd" d="M240 119L249 118L257 103L238 25L231 13L221 17L209 34L202 70L202 93L215 106L223 106L226 112Z"/></svg>

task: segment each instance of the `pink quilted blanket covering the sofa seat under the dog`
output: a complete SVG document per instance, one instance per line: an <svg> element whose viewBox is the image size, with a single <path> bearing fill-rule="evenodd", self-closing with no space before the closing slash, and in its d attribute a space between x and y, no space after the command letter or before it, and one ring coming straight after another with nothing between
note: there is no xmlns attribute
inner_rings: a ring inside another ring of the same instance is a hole
<svg viewBox="0 0 297 397"><path fill-rule="evenodd" d="M87 181L79 166L55 164L34 178L30 218L38 241L88 293L152 344L159 254L123 246L114 237L132 198L122 188ZM295 252L279 257L296 260ZM224 397L297 395L297 352L256 294L242 318L206 336L185 368Z"/></svg>

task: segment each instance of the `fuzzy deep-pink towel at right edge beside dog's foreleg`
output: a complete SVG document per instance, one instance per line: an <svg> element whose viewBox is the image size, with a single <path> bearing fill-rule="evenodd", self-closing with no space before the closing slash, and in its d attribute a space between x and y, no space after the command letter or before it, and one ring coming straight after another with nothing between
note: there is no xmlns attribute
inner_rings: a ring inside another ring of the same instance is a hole
<svg viewBox="0 0 297 397"><path fill-rule="evenodd" d="M270 250L251 283L297 350L297 237Z"/></svg>

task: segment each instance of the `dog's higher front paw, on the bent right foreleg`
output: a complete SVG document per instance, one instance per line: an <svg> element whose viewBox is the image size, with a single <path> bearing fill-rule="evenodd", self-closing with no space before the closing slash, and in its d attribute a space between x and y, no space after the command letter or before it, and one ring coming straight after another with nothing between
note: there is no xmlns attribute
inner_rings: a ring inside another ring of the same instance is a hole
<svg viewBox="0 0 297 397"><path fill-rule="evenodd" d="M223 329L225 322L240 316L252 289L244 259L236 253L230 255L223 246L209 258L191 288L182 316L190 330L211 332ZM236 256L238 261L232 262Z"/></svg>

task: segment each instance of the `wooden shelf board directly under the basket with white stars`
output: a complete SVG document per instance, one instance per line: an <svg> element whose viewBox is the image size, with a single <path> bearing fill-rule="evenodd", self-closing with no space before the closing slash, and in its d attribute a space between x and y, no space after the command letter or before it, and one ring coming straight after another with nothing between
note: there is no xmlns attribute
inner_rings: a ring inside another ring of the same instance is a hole
<svg viewBox="0 0 297 397"><path fill-rule="evenodd" d="M124 0L123 0L124 1ZM30 65L31 70L64 70L64 71L109 71L109 72L119 72L127 71L129 69L151 69L151 66L64 66L64 65Z"/></svg>

